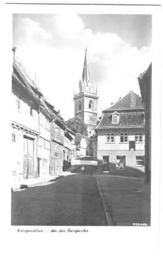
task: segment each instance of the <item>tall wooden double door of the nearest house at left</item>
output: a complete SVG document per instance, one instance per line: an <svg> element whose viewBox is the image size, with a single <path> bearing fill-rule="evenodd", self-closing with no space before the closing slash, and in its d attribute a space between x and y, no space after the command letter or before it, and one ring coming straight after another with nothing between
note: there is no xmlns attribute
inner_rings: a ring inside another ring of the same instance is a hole
<svg viewBox="0 0 163 256"><path fill-rule="evenodd" d="M34 173L34 139L24 136L23 175L25 179L33 178Z"/></svg>

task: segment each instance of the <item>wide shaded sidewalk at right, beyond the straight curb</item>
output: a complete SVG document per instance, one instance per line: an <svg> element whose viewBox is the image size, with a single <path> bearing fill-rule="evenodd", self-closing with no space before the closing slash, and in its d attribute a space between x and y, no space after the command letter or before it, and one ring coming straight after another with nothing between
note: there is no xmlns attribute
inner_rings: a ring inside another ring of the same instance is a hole
<svg viewBox="0 0 163 256"><path fill-rule="evenodd" d="M113 225L150 226L150 185L143 178L95 177Z"/></svg>

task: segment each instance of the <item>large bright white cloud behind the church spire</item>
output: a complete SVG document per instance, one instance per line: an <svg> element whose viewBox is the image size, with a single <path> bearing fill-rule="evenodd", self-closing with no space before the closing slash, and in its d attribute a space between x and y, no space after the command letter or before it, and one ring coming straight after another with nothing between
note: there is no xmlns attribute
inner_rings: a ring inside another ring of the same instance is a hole
<svg viewBox="0 0 163 256"><path fill-rule="evenodd" d="M150 63L150 48L131 47L117 34L92 33L78 15L54 15L48 32L39 22L15 17L16 56L65 119L74 115L73 93L82 75L85 46L91 80L98 82L99 113L120 96L139 93L137 76ZM47 16L48 19L48 16Z"/></svg>

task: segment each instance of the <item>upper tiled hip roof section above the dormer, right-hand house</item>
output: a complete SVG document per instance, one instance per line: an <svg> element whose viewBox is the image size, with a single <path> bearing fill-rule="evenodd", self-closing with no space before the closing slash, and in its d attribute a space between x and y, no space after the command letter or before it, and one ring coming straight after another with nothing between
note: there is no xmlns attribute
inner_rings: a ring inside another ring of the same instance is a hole
<svg viewBox="0 0 163 256"><path fill-rule="evenodd" d="M108 109L104 110L103 113L121 110L144 110L144 103L141 96L130 91L127 95L113 103Z"/></svg>

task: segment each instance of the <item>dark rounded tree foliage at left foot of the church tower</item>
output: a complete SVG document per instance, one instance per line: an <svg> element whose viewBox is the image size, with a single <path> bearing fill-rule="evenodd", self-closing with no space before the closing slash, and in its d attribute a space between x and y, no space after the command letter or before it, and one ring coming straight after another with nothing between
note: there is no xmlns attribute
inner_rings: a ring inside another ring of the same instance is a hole
<svg viewBox="0 0 163 256"><path fill-rule="evenodd" d="M75 132L75 133L80 133L84 136L88 136L87 134L87 126L83 122L81 117L73 117L69 120L67 120L67 125Z"/></svg>

